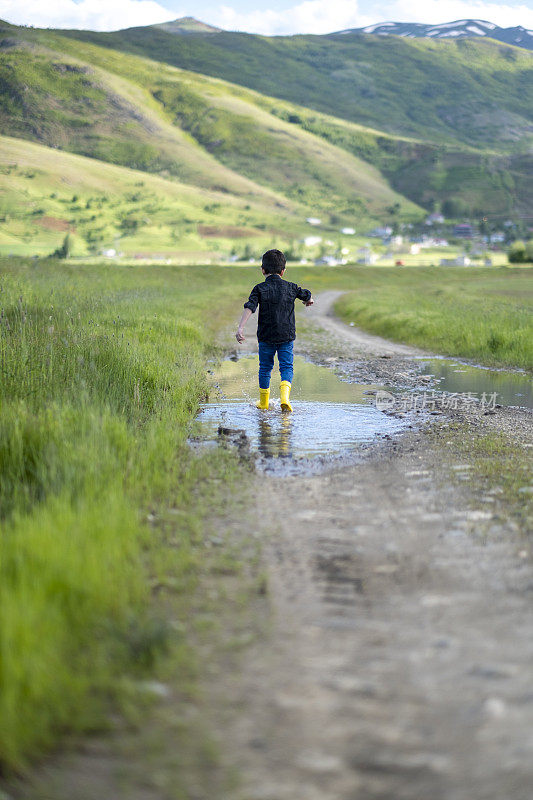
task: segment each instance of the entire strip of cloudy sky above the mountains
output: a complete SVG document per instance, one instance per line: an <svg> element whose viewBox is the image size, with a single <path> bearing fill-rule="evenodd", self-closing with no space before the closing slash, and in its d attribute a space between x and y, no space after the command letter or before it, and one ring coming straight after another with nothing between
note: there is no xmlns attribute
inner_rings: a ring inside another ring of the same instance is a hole
<svg viewBox="0 0 533 800"><path fill-rule="evenodd" d="M226 30L266 35L328 33L375 22L439 23L472 18L533 30L533 0L0 0L19 25L110 31L193 16Z"/></svg>

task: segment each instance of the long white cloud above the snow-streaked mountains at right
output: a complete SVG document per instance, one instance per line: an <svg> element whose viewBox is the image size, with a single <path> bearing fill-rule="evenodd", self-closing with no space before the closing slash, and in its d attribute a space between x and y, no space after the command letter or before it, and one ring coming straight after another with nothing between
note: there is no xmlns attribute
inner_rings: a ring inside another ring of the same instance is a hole
<svg viewBox="0 0 533 800"><path fill-rule="evenodd" d="M485 0L390 0L375 3L372 13L362 12L355 0L304 0L287 8L238 11L231 6L212 7L205 21L226 30L275 36L292 33L331 33L363 28L376 22L451 22L485 19L501 27L523 25L533 29L533 9L526 5Z"/></svg>

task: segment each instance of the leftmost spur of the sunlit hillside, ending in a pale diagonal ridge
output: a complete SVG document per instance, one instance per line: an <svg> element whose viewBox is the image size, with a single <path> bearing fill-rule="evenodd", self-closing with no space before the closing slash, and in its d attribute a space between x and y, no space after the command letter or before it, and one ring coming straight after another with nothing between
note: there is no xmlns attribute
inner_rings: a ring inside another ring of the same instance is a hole
<svg viewBox="0 0 533 800"><path fill-rule="evenodd" d="M65 48L60 38L10 31L13 35L0 51L4 134L175 176L203 188L270 195L273 201L273 192L224 168L160 114L150 93L135 80L150 74L145 64L136 75L139 64L122 59L124 80L100 69L98 62L79 58L82 48ZM73 57L65 58L65 49Z"/></svg>

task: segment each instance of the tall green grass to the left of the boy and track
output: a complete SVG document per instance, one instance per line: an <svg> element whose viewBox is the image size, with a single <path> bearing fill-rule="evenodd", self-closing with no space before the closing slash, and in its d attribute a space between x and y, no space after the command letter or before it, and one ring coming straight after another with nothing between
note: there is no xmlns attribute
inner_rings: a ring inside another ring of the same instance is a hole
<svg viewBox="0 0 533 800"><path fill-rule="evenodd" d="M0 267L0 763L20 768L150 660L146 509L194 510L187 426L232 284Z"/></svg>

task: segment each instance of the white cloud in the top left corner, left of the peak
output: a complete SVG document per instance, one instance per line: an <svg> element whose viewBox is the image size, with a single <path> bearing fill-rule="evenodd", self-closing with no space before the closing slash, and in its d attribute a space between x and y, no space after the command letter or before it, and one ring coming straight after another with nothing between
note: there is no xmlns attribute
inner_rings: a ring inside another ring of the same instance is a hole
<svg viewBox="0 0 533 800"><path fill-rule="evenodd" d="M0 0L0 18L36 28L84 28L112 31L153 25L179 14L156 0Z"/></svg>

